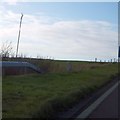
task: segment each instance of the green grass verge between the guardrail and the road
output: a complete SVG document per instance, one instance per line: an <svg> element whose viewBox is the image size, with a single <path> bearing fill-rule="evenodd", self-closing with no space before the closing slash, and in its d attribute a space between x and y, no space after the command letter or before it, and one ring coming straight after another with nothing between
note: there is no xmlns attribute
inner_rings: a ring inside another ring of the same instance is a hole
<svg viewBox="0 0 120 120"><path fill-rule="evenodd" d="M117 64L101 66L71 73L4 77L3 118L51 118L72 107L118 72Z"/></svg>

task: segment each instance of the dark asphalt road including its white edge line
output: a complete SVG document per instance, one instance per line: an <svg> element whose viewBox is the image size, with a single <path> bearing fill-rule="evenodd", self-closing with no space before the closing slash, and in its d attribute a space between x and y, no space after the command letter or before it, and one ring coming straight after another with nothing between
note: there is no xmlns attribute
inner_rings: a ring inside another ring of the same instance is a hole
<svg viewBox="0 0 120 120"><path fill-rule="evenodd" d="M76 118L120 118L120 82L115 83Z"/></svg>

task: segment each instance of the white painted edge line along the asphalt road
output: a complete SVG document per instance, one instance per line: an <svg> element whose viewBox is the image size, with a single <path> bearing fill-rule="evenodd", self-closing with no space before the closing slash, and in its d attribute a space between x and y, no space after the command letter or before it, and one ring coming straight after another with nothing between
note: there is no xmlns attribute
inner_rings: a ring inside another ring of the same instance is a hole
<svg viewBox="0 0 120 120"><path fill-rule="evenodd" d="M82 113L80 113L80 115L77 116L76 120L78 120L78 118L82 118L85 119L87 118L92 112L93 110L95 110L98 105L108 96L110 95L114 89L118 86L118 84L120 84L120 81L117 82L115 85L113 85L108 91L106 91L102 96L100 96L94 103L92 103L87 109L85 109Z"/></svg>

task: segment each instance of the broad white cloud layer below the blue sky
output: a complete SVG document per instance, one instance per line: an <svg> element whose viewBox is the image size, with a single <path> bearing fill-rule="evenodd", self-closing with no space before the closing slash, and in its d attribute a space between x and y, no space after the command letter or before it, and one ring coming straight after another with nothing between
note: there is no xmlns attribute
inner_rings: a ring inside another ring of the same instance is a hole
<svg viewBox="0 0 120 120"><path fill-rule="evenodd" d="M0 38L16 49L20 15L2 16ZM24 15L19 53L56 59L110 59L117 57L117 31L107 21L63 21L44 15Z"/></svg>

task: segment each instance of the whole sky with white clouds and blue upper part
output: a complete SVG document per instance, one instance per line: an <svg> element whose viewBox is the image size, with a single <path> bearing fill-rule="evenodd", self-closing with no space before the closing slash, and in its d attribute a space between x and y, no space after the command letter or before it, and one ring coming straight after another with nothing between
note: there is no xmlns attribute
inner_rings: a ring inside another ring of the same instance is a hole
<svg viewBox="0 0 120 120"><path fill-rule="evenodd" d="M118 55L117 2L3 2L0 45L12 41L19 54L69 60L109 60Z"/></svg>

